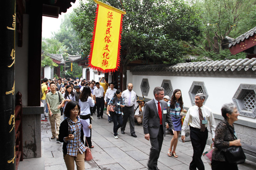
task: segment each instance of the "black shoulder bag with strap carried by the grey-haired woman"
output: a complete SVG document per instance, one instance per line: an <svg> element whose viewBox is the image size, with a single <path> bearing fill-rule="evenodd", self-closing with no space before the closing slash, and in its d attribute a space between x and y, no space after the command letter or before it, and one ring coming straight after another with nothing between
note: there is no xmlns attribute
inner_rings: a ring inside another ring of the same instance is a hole
<svg viewBox="0 0 256 170"><path fill-rule="evenodd" d="M229 128L229 125L227 125ZM236 135L234 134L234 132L232 132L232 130L229 128L229 131L231 134L234 135L234 139L236 138ZM234 163L238 163L238 162L244 162L246 159L246 156L243 152L243 148L241 146L229 146L227 151L224 152L226 161L229 164L234 164Z"/></svg>

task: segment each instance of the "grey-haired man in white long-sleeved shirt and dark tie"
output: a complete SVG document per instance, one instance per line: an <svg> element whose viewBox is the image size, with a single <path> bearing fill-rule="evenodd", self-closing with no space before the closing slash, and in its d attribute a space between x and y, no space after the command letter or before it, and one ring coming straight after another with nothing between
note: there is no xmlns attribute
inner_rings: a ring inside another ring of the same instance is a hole
<svg viewBox="0 0 256 170"><path fill-rule="evenodd" d="M182 141L185 140L185 131L190 128L190 139L193 146L193 159L189 165L189 170L204 170L202 153L208 139L207 126L209 123L212 141L215 137L216 123L211 110L203 105L205 95L195 94L195 106L190 107L182 126Z"/></svg>

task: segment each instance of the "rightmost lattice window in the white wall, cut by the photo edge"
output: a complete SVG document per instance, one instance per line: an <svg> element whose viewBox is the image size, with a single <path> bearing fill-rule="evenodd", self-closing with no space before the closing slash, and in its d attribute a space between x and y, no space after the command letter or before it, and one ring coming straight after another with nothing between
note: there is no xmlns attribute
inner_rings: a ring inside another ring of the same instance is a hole
<svg viewBox="0 0 256 170"><path fill-rule="evenodd" d="M256 118L256 85L240 84L233 101L240 115Z"/></svg>

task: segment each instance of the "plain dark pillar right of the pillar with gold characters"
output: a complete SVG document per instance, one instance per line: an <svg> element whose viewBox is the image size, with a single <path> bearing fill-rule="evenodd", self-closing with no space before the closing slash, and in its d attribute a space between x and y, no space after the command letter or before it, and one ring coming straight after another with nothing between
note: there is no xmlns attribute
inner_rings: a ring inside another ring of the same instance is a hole
<svg viewBox="0 0 256 170"><path fill-rule="evenodd" d="M40 106L41 41L42 41L42 0L29 1L28 25L28 84L27 105Z"/></svg>

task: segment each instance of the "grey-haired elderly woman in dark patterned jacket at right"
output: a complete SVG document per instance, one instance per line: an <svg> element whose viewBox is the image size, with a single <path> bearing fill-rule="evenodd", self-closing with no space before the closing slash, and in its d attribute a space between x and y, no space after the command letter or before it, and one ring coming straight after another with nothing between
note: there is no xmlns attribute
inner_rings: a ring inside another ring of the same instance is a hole
<svg viewBox="0 0 256 170"><path fill-rule="evenodd" d="M229 164L224 152L229 146L241 146L240 139L235 139L236 132L233 123L238 120L238 111L234 103L222 106L222 120L216 127L214 140L215 149L212 153L212 170L238 170L237 164Z"/></svg>

